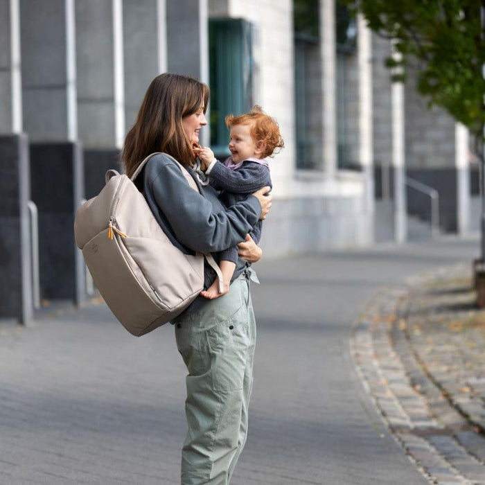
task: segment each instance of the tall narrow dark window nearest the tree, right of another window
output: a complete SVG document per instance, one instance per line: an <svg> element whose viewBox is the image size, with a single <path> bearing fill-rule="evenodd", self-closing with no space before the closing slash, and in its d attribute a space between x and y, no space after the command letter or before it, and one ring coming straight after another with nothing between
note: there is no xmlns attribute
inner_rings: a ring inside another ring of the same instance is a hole
<svg viewBox="0 0 485 485"><path fill-rule="evenodd" d="M349 8L335 1L337 44L337 167L360 170L357 24Z"/></svg>

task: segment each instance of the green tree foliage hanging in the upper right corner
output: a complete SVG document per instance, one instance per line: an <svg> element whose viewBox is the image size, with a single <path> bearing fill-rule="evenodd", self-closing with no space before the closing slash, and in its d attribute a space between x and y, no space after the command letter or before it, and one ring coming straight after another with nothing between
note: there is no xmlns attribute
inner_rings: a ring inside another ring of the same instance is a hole
<svg viewBox="0 0 485 485"><path fill-rule="evenodd" d="M417 64L417 89L430 106L441 106L475 137L483 159L485 44L480 3L485 0L343 0L362 12L371 30L394 39L399 56L389 58L394 80ZM396 73L397 72L397 73Z"/></svg>

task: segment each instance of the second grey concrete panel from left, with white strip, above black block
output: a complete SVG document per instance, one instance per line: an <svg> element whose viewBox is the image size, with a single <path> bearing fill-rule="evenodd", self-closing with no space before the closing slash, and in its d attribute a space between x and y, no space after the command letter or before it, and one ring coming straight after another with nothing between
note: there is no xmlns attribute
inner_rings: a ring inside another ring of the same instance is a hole
<svg viewBox="0 0 485 485"><path fill-rule="evenodd" d="M20 14L24 129L31 141L74 141L74 2L21 0Z"/></svg>

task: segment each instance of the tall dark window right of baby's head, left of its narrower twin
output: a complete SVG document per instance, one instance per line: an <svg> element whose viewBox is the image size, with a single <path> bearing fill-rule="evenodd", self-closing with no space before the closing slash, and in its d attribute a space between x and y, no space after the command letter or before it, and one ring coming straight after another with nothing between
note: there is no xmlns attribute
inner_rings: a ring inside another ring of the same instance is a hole
<svg viewBox="0 0 485 485"><path fill-rule="evenodd" d="M321 170L319 0L294 0L293 15L297 168Z"/></svg>

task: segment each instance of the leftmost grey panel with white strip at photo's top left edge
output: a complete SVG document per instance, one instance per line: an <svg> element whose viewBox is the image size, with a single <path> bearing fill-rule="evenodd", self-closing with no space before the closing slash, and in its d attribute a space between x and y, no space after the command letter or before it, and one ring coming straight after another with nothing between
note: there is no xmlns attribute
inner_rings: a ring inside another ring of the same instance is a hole
<svg viewBox="0 0 485 485"><path fill-rule="evenodd" d="M19 0L0 0L0 132L22 130Z"/></svg>

